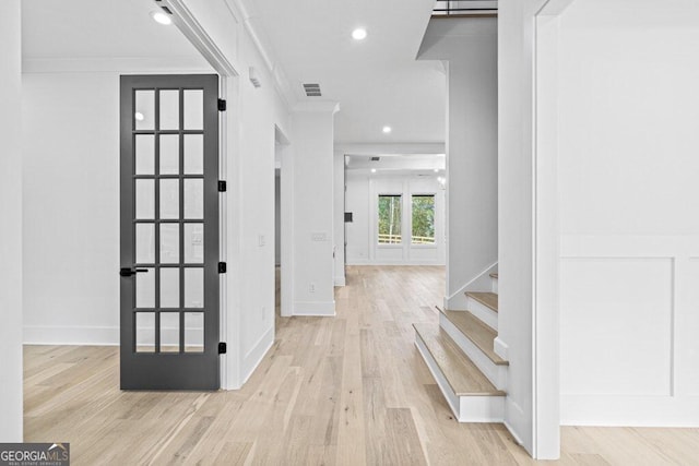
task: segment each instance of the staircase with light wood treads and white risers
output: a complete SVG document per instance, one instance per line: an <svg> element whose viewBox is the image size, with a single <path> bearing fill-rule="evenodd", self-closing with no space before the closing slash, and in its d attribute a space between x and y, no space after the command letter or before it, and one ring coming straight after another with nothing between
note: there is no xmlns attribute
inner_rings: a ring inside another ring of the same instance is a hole
<svg viewBox="0 0 699 466"><path fill-rule="evenodd" d="M498 275L491 291L466 292L464 311L439 309L439 327L413 324L415 346L460 422L501 422L508 361L494 350Z"/></svg>

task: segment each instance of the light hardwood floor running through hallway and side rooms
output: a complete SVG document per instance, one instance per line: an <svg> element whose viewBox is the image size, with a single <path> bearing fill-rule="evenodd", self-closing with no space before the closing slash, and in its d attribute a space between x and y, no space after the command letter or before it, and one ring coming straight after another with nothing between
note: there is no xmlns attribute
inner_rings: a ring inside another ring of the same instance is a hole
<svg viewBox="0 0 699 466"><path fill-rule="evenodd" d="M277 316L237 392L119 391L116 347L25 347L25 440L74 465L525 465L500 425L460 425L414 347L443 267L348 267L337 316ZM699 464L698 429L564 428L560 464Z"/></svg>

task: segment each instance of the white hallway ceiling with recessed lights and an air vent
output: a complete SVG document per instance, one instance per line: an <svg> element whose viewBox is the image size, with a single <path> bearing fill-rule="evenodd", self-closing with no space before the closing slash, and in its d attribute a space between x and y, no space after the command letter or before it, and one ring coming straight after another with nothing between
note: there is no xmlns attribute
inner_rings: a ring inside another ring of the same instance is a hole
<svg viewBox="0 0 699 466"><path fill-rule="evenodd" d="M299 100L336 100L335 142L443 142L446 77L415 56L434 0L246 0ZM367 31L360 41L356 27ZM307 97L303 83L320 84ZM384 126L392 128L382 133Z"/></svg>

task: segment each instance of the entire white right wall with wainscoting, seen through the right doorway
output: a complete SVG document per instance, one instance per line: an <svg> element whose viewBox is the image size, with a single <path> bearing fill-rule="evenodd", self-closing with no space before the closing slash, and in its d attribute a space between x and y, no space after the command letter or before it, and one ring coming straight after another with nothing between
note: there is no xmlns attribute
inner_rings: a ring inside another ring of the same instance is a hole
<svg viewBox="0 0 699 466"><path fill-rule="evenodd" d="M699 5L578 1L558 47L561 421L697 427Z"/></svg>

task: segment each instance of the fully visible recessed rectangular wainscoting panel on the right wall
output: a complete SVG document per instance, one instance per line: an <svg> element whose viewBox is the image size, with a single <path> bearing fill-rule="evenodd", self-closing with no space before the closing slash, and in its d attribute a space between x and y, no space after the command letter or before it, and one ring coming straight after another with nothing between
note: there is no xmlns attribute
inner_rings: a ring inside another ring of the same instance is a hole
<svg viewBox="0 0 699 466"><path fill-rule="evenodd" d="M562 393L670 395L672 273L672 259L562 260Z"/></svg>

